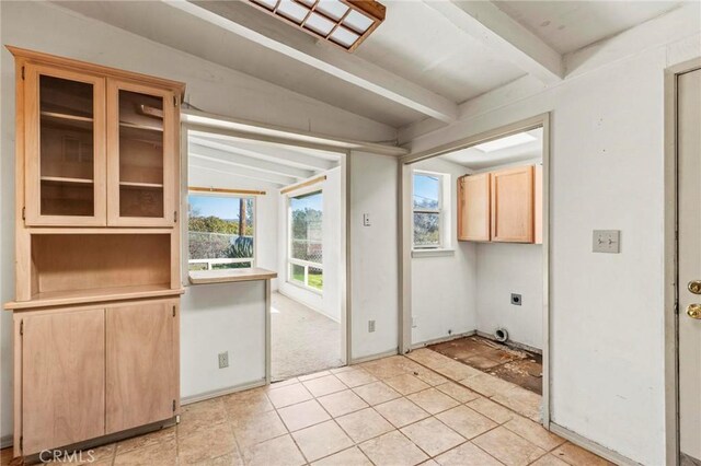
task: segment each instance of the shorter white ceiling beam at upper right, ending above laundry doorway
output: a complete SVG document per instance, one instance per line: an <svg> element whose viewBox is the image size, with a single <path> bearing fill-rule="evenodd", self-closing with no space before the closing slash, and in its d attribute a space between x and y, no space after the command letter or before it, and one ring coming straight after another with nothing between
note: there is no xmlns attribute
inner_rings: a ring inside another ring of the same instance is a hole
<svg viewBox="0 0 701 466"><path fill-rule="evenodd" d="M499 57L543 83L562 81L563 57L491 1L424 2Z"/></svg>

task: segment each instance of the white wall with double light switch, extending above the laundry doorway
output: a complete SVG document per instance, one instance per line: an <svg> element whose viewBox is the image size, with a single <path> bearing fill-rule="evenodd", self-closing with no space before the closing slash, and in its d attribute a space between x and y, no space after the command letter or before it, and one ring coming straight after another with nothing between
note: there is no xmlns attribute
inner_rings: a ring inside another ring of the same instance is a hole
<svg viewBox="0 0 701 466"><path fill-rule="evenodd" d="M681 14L698 22L698 7ZM517 102L471 106L412 142L552 112L552 420L646 465L665 464L664 69L701 55L696 31ZM593 254L594 229L621 230L621 254Z"/></svg>

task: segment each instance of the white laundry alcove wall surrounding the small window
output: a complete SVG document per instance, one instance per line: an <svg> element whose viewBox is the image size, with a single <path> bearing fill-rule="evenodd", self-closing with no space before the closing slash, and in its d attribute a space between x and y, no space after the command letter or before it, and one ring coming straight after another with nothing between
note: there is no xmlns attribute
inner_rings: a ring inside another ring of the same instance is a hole
<svg viewBox="0 0 701 466"><path fill-rule="evenodd" d="M476 256L474 243L458 242L458 177L469 171L443 159L411 165L449 176L449 249L440 257L412 258L412 345L472 331L476 328Z"/></svg>

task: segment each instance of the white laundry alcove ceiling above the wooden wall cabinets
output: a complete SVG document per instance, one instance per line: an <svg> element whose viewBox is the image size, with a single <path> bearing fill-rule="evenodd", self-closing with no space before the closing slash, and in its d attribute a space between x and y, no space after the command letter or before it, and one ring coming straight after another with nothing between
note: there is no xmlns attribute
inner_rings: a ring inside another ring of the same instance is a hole
<svg viewBox="0 0 701 466"><path fill-rule="evenodd" d="M460 149L441 155L441 159L457 163L470 170L479 171L512 163L542 160L543 156L543 130L542 128L525 131L536 138L510 148L485 152L475 147Z"/></svg>

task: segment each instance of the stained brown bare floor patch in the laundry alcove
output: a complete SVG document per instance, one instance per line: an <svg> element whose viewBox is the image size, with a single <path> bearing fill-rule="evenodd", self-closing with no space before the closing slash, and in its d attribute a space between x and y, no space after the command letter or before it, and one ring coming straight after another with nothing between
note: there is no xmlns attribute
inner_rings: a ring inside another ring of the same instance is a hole
<svg viewBox="0 0 701 466"><path fill-rule="evenodd" d="M427 348L538 395L543 393L543 358L538 353L512 348L476 335L430 345Z"/></svg>

